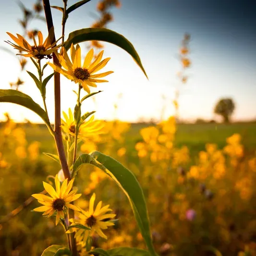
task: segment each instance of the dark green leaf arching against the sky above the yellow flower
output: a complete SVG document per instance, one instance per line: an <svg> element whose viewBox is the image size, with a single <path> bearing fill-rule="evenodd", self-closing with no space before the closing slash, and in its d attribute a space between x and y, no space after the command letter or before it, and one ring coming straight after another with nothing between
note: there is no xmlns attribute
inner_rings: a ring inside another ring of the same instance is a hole
<svg viewBox="0 0 256 256"><path fill-rule="evenodd" d="M72 43L78 44L81 42L92 41L92 40L108 42L124 49L134 58L134 61L139 65L143 73L146 75L146 71L142 66L140 57L136 52L136 50L134 49L134 46L132 45L132 43L128 41L125 37L123 37L121 34L118 34L115 31L112 31L110 29L83 28L80 30L75 30L69 34L69 37L64 47L66 50L68 50L70 49ZM146 75L146 78L147 78L147 75Z"/></svg>

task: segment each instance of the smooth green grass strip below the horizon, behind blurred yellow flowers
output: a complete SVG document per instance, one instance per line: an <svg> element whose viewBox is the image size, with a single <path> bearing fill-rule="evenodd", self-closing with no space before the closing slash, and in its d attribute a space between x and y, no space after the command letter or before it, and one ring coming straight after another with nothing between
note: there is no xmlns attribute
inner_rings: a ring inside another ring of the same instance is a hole
<svg viewBox="0 0 256 256"><path fill-rule="evenodd" d="M134 123L127 133L125 144L132 149L135 143L142 140L140 129L149 126L145 123ZM54 140L44 125L24 125L28 142L39 141L41 150L54 150ZM256 150L256 123L206 123L206 124L178 124L175 139L176 146L188 146L192 155L205 149L207 143L215 143L222 148L226 145L226 138L234 133L241 134L245 150L252 153Z"/></svg>

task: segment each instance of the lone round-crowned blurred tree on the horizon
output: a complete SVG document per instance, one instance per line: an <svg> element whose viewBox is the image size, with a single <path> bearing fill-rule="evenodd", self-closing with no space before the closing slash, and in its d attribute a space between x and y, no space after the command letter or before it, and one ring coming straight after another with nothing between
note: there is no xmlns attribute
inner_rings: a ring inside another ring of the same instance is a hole
<svg viewBox="0 0 256 256"><path fill-rule="evenodd" d="M232 98L222 98L215 106L214 113L222 116L223 122L230 122L230 117L235 109Z"/></svg>

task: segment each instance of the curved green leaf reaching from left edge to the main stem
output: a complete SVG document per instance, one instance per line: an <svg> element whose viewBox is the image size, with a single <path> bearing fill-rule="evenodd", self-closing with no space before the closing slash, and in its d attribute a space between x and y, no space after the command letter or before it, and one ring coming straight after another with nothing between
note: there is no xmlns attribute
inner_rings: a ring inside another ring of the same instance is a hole
<svg viewBox="0 0 256 256"><path fill-rule="evenodd" d="M43 110L32 98L20 91L0 89L0 102L10 102L26 107L37 113L47 126L51 127L45 110Z"/></svg>

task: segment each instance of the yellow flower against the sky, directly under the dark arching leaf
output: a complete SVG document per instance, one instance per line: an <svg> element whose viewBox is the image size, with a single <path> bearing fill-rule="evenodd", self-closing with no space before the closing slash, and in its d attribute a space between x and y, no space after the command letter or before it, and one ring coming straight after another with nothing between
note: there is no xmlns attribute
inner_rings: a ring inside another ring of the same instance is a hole
<svg viewBox="0 0 256 256"><path fill-rule="evenodd" d="M70 51L71 59L69 58L65 48L61 49L62 54L57 55L63 68L48 62L48 64L54 69L54 71L63 74L65 77L75 83L79 83L83 86L87 93L90 93L90 89L88 86L97 87L96 83L109 82L107 80L102 80L98 78L107 76L113 73L113 71L95 74L97 71L104 68L110 60L110 58L106 58L101 61L104 50L102 50L92 62L94 51L93 49L90 49L85 57L83 65L81 64L80 46L77 44L76 48L74 48L72 44Z"/></svg>

